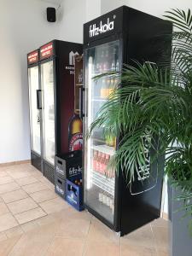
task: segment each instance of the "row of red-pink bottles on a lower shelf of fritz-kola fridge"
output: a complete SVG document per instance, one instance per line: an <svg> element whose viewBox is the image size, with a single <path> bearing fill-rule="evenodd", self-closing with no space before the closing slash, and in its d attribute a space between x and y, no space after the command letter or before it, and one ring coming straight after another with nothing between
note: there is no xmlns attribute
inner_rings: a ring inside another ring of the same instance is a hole
<svg viewBox="0 0 192 256"><path fill-rule="evenodd" d="M110 160L109 154L104 154L100 151L94 150L93 152L93 170L100 172L107 177L114 177L112 170L108 170L108 162Z"/></svg>

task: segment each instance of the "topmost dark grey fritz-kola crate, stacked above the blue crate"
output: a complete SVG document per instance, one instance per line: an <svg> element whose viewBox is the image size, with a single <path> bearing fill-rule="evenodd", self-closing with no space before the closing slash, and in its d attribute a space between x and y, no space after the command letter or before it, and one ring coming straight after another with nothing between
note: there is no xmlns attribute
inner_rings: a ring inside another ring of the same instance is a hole
<svg viewBox="0 0 192 256"><path fill-rule="evenodd" d="M76 150L67 154L55 155L55 175L62 179L81 178L82 151Z"/></svg>

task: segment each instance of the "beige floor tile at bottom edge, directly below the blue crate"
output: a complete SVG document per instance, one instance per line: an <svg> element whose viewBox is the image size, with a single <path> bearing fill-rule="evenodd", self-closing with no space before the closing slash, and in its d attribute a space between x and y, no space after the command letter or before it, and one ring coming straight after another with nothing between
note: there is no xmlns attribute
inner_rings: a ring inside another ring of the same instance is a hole
<svg viewBox="0 0 192 256"><path fill-rule="evenodd" d="M46 256L82 256L83 251L84 240L55 237Z"/></svg>

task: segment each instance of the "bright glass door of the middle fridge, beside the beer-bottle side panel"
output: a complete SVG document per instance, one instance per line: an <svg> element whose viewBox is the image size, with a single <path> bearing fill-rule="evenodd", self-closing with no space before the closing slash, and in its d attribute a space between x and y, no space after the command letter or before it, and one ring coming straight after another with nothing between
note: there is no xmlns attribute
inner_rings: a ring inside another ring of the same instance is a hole
<svg viewBox="0 0 192 256"><path fill-rule="evenodd" d="M44 160L55 164L55 106L53 61L41 64Z"/></svg>

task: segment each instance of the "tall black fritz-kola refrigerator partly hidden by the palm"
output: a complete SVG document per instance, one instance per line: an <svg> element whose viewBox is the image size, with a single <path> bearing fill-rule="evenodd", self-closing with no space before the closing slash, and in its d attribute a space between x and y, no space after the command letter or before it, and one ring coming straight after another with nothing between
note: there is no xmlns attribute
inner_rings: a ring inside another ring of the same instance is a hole
<svg viewBox="0 0 192 256"><path fill-rule="evenodd" d="M169 61L172 24L122 6L84 24L84 138L99 108L107 101L119 79L92 79L100 73L121 71L123 64ZM165 60L166 59L166 60ZM84 205L96 218L123 236L160 217L163 157L150 163L143 177L128 187L124 170L103 172L119 137L104 137L102 128L84 139ZM149 176L153 173L153 177ZM107 174L107 175L106 175Z"/></svg>

